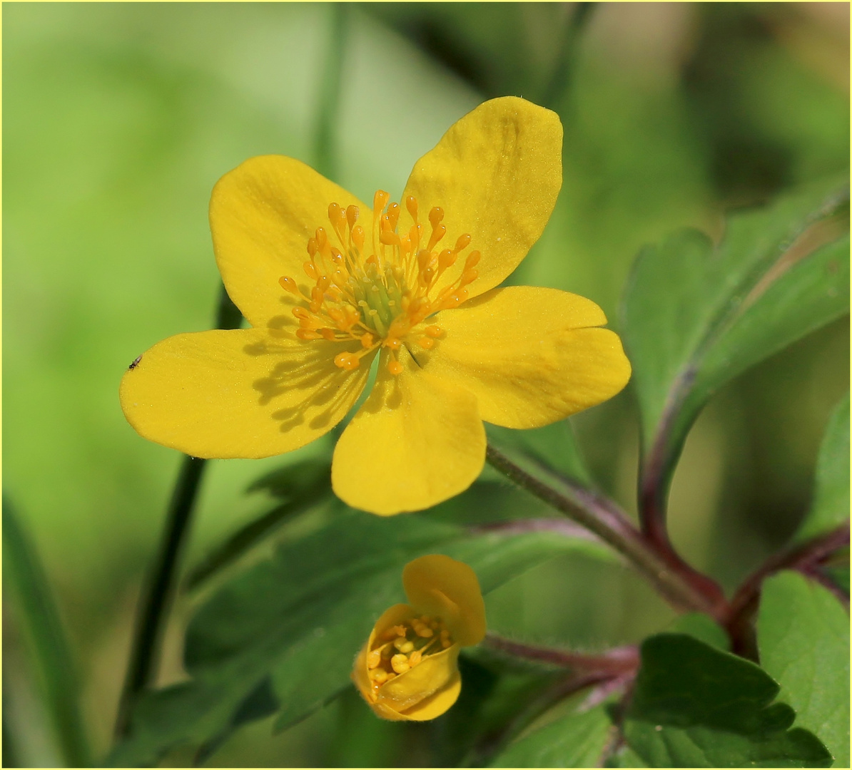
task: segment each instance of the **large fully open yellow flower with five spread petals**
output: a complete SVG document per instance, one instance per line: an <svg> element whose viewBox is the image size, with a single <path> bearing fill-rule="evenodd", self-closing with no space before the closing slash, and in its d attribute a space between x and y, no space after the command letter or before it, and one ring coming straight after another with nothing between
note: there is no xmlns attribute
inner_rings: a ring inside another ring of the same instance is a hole
<svg viewBox="0 0 852 770"><path fill-rule="evenodd" d="M370 208L289 157L235 168L213 191L210 228L251 328L145 352L122 380L130 425L195 457L289 452L343 419L379 356L331 481L349 505L389 515L474 482L483 420L533 428L613 396L630 364L597 305L495 288L550 217L561 141L556 113L487 101L417 162L401 206L377 191Z"/></svg>

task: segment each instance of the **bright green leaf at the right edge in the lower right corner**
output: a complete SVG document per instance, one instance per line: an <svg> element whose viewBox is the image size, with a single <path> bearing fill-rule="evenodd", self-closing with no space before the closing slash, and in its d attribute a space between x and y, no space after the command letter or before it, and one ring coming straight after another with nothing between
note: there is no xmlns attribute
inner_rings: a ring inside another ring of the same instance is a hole
<svg viewBox="0 0 852 770"><path fill-rule="evenodd" d="M840 602L799 573L774 575L763 583L757 644L797 725L849 767L849 615Z"/></svg>

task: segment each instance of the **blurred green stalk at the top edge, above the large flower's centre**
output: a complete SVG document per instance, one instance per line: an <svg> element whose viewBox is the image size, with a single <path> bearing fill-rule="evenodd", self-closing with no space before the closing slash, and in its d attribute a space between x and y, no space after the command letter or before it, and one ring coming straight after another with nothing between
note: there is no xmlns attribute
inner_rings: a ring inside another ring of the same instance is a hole
<svg viewBox="0 0 852 770"><path fill-rule="evenodd" d="M328 179L337 177L335 127L340 111L340 88L343 81L343 53L346 48L348 9L346 3L331 3L331 35L325 69L320 84L320 110L314 129L314 167Z"/></svg>

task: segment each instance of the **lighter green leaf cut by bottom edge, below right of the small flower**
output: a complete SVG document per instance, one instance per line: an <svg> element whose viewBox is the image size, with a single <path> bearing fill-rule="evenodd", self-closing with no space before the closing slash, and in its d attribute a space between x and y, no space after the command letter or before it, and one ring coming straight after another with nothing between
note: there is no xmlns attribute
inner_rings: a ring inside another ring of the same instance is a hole
<svg viewBox="0 0 852 770"><path fill-rule="evenodd" d="M573 711L509 745L491 767L598 767L612 726L604 704Z"/></svg>

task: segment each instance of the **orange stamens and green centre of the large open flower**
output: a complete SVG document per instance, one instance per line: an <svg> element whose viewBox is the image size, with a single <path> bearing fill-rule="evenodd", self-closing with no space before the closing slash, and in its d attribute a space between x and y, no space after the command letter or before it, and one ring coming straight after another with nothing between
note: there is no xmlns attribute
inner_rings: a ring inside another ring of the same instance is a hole
<svg viewBox="0 0 852 770"><path fill-rule="evenodd" d="M314 282L313 288L306 292L295 279L279 278L285 291L302 300L293 308L299 320L299 339L351 340L359 345L334 358L338 367L348 371L357 369L363 356L386 347L393 354L389 372L400 374L400 347L415 343L426 350L433 348L443 331L423 322L438 311L461 305L468 298L468 284L479 275L476 265L480 253L471 251L458 279L438 290L440 277L468 248L470 236L465 233L454 248L439 250L438 243L446 235L446 226L441 224L444 211L439 206L429 211L431 234L426 240L426 227L417 219L417 199L413 196L406 198L406 208L414 225L400 235L400 205L388 201L388 193L382 190L373 197L369 247L366 231L356 224L358 207L331 203L328 218L332 238L325 228L318 227L314 237L308 239L309 259L304 271Z"/></svg>

